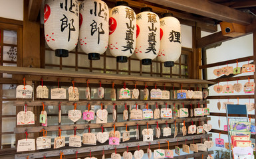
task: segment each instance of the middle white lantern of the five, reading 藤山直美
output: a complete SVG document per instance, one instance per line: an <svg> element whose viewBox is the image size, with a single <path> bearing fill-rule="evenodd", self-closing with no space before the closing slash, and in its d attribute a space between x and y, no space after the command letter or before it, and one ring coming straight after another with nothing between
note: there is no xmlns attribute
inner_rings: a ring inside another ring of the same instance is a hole
<svg viewBox="0 0 256 159"><path fill-rule="evenodd" d="M127 62L134 53L136 14L125 1L118 1L110 11L108 47L116 62Z"/></svg>

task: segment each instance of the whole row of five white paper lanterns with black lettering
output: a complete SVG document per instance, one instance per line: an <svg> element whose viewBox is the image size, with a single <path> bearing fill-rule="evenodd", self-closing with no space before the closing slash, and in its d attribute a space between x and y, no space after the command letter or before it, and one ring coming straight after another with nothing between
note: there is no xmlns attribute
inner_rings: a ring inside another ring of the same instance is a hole
<svg viewBox="0 0 256 159"><path fill-rule="evenodd" d="M170 67L180 58L180 22L170 13L159 19L146 7L136 15L124 1L118 1L110 12L100 0L82 1L80 11L78 7L77 0L45 3L45 39L56 56L67 57L79 36L89 60L99 60L107 48L117 62L127 62L134 52L144 65L158 56Z"/></svg>

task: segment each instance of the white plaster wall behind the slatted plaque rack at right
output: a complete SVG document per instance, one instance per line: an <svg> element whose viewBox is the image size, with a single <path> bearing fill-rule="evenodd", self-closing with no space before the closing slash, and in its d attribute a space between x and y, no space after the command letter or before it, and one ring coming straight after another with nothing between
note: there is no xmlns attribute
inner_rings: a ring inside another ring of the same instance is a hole
<svg viewBox="0 0 256 159"><path fill-rule="evenodd" d="M220 27L218 26L218 31L221 31ZM208 32L201 32L201 36L207 36L209 35ZM253 35L249 34L247 36L243 36L241 38L235 38L233 40L229 40L227 42L223 42L221 44L221 46L217 47L217 48L211 48L207 50L207 64L211 64L211 63L215 63L215 62L223 62L226 60L233 60L233 59L237 59L237 58L243 58L246 56L253 56ZM252 61L249 61L252 62ZM239 62L238 66L241 67L243 64L247 64L248 62ZM233 66L233 68L236 67L236 64L229 64L229 66ZM222 68L223 66L219 66L219 68ZM207 78L208 79L216 79L217 76L215 76L213 74L213 70L216 69L217 67L213 67L213 68L208 68L207 69ZM240 74L238 76L247 76L247 75L251 75L252 73L247 73L247 74ZM241 83L242 85L244 83L246 83L248 80L239 80L239 83ZM253 81L253 79L251 79L250 81ZM234 84L237 81L229 81L230 84ZM227 82L221 82L219 83L219 85L224 85L227 84ZM214 86L214 85L213 85ZM213 86L209 87L209 95L245 95L245 93L243 91L241 91L240 93L229 93L229 94L224 94L224 93L216 93L215 91L213 91ZM253 94L253 93L251 93ZM227 101L227 99L212 99L210 100L209 105L207 105L207 107L209 107L210 112L212 113L225 113L225 109L221 109L220 111L217 109L217 102L220 101L221 102L221 107L222 107L222 103ZM229 101L234 102L235 104L237 104L237 99L229 99ZM253 99L239 99L239 104L245 104L245 103L249 103L249 101L251 103L254 102ZM254 114L254 111L249 112L249 114ZM225 117L211 117L211 121L208 121L208 123L210 123L213 126L213 129L219 129L219 130L223 130L224 129L224 125L227 125L227 121ZM218 126L218 120L221 120L221 126L219 128ZM251 120L251 122L255 122L254 120ZM217 133L213 133L213 142L215 142L215 138L219 138L219 134ZM227 134L221 134L221 138L223 138L225 140L225 142L228 142L228 138L227 138ZM253 142L255 142L253 140ZM221 149L218 147L213 146L213 148L211 148L211 150L217 150L217 149ZM225 148L223 148L225 150Z"/></svg>

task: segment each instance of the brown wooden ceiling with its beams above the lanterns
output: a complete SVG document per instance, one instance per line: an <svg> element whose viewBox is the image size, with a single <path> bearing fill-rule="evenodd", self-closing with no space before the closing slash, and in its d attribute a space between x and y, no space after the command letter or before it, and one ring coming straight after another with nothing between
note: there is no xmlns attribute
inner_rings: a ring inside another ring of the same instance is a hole
<svg viewBox="0 0 256 159"><path fill-rule="evenodd" d="M29 21L37 21L42 0L29 1ZM81 1L81 0L79 0ZM109 7L116 1L103 0ZM215 32L221 21L249 26L256 21L256 0L124 0L137 13L142 7L152 7L155 13L173 13L184 25L199 26Z"/></svg>

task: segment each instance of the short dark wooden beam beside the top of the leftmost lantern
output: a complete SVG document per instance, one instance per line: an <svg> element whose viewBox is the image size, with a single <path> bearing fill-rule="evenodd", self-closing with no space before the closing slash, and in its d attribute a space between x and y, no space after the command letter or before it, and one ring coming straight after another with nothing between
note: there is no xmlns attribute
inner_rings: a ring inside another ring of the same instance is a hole
<svg viewBox="0 0 256 159"><path fill-rule="evenodd" d="M43 0L29 0L29 21L37 21Z"/></svg>

